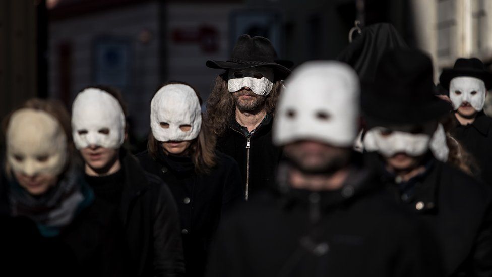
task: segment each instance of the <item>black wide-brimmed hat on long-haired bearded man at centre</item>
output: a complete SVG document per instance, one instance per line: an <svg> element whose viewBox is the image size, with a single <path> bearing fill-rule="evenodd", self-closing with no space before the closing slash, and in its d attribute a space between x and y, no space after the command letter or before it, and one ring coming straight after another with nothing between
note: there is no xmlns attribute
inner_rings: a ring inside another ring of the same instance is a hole
<svg viewBox="0 0 492 277"><path fill-rule="evenodd" d="M241 35L227 61L208 60L207 66L220 69L245 69L252 67L271 67L278 73L279 79L285 79L290 69L276 62L277 53L272 42L261 36Z"/></svg>

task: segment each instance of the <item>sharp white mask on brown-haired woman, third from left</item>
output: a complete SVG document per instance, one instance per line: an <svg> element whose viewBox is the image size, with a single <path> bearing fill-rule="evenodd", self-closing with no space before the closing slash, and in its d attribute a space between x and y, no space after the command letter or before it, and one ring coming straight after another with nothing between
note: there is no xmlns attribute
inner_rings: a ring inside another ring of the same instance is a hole
<svg viewBox="0 0 492 277"><path fill-rule="evenodd" d="M186 141L198 137L202 125L202 109L197 94L188 85L163 86L150 103L150 127L161 142ZM183 131L180 127L191 126Z"/></svg>

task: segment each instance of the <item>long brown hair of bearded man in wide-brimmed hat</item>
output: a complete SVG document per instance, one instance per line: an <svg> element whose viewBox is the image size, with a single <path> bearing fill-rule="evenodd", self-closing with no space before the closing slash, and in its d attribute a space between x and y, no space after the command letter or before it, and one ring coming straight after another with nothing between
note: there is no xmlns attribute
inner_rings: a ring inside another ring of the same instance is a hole
<svg viewBox="0 0 492 277"><path fill-rule="evenodd" d="M272 92L265 100L267 113L275 112L281 88L281 81L276 80ZM222 135L229 128L229 122L234 119L235 111L234 100L227 89L227 71L225 71L215 78L214 87L207 100L206 118L216 136Z"/></svg>

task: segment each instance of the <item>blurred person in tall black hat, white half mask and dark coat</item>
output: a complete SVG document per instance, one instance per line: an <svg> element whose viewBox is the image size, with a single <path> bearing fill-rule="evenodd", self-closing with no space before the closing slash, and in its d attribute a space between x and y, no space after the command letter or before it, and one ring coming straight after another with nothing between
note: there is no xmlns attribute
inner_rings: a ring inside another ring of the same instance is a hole
<svg viewBox="0 0 492 277"><path fill-rule="evenodd" d="M438 120L449 111L434 96L430 58L417 50L388 51L363 93L367 159L396 202L433 231L446 275L490 276L490 188L429 150Z"/></svg>

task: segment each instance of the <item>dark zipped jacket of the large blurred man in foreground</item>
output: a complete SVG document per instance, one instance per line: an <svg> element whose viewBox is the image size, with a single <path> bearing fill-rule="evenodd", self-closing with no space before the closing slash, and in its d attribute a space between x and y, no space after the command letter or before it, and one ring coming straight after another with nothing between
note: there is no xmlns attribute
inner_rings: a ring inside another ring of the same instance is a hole
<svg viewBox="0 0 492 277"><path fill-rule="evenodd" d="M262 192L222 221L208 276L440 276L425 230L378 182L359 167L334 191L280 180L281 194Z"/></svg>

